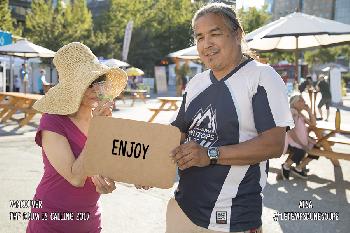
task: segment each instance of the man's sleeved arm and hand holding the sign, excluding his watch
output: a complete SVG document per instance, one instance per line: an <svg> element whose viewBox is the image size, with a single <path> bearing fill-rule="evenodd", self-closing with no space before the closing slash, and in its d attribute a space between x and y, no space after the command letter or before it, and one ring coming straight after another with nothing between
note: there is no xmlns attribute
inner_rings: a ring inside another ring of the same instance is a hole
<svg viewBox="0 0 350 233"><path fill-rule="evenodd" d="M273 68L266 67L255 89L252 109L257 136L239 144L220 146L218 164L256 164L283 153L286 129L294 126L285 84ZM210 163L207 149L195 142L175 148L172 155L180 169Z"/></svg>

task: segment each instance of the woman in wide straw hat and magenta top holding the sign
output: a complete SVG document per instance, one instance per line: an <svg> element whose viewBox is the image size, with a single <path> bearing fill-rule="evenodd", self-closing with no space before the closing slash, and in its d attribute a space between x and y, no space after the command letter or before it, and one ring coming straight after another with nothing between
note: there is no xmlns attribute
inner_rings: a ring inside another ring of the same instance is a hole
<svg viewBox="0 0 350 233"><path fill-rule="evenodd" d="M116 97L126 85L127 75L118 68L100 64L85 45L73 42L57 51L53 62L59 83L34 104L43 112L35 137L42 147L44 175L34 200L41 201L39 220L31 220L27 233L100 232L97 203L101 193L115 189L112 180L87 177L83 163L86 135L94 116L111 116L111 102L98 102L93 84L111 83ZM97 107L96 107L97 106Z"/></svg>

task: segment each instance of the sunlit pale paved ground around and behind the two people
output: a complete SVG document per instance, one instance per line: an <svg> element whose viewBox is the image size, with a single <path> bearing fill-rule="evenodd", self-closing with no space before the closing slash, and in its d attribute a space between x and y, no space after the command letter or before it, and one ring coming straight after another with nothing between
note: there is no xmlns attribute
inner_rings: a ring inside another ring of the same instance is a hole
<svg viewBox="0 0 350 233"><path fill-rule="evenodd" d="M130 108L130 102L118 102L119 111L114 117L147 120L151 112L147 106L156 105L149 100L147 105L137 102ZM342 122L350 124L350 96L345 98ZM331 121L334 120L332 109ZM155 122L167 123L171 112L161 113ZM21 117L20 115L18 117ZM10 212L26 212L28 209L10 208L10 200L31 199L38 184L43 167L40 149L34 144L33 136L39 117L33 124L18 129L16 123L0 124L0 232L25 232L26 222L10 220ZM337 148L346 150L348 148ZM334 168L328 159L320 158L310 164L307 181L292 178L290 181L276 181L280 164L285 157L270 160L268 184L264 191L263 230L266 233L309 233L350 231L350 162L340 161ZM175 187L175 186L174 186ZM158 233L165 229L165 210L174 187L169 190L137 190L131 185L119 184L117 190L101 198L102 225L104 233ZM300 200L311 200L312 209L299 209ZM277 212L312 211L338 212L338 221L274 221ZM179 223L181 224L181 223Z"/></svg>

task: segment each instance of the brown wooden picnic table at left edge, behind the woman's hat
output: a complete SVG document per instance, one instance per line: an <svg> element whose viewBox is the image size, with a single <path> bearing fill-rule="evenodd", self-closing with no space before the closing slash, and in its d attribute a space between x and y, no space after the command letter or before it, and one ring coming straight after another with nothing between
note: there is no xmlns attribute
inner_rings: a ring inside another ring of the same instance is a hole
<svg viewBox="0 0 350 233"><path fill-rule="evenodd" d="M40 113L32 108L35 101L42 95L25 94L20 92L0 92L0 119L5 123L17 112L23 112L25 117L20 120L19 126L27 125L35 114Z"/></svg>

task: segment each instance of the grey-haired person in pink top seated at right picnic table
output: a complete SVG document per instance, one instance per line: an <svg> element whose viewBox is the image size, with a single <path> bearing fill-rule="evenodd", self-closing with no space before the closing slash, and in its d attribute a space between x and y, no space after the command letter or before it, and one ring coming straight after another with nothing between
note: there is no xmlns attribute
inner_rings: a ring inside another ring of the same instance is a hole
<svg viewBox="0 0 350 233"><path fill-rule="evenodd" d="M315 145L314 140L309 137L306 124L309 126L316 125L316 119L301 95L292 96L289 103L295 128L286 134L285 147L288 147L290 155L284 164L282 164L281 174L283 179L288 180L291 171L297 177L306 179L307 175L304 168L311 160L318 159L318 156L310 154L306 156L306 153ZM308 116L302 113L303 110L308 113ZM287 148L285 148L286 150ZM292 167L293 163L296 164L295 167Z"/></svg>

